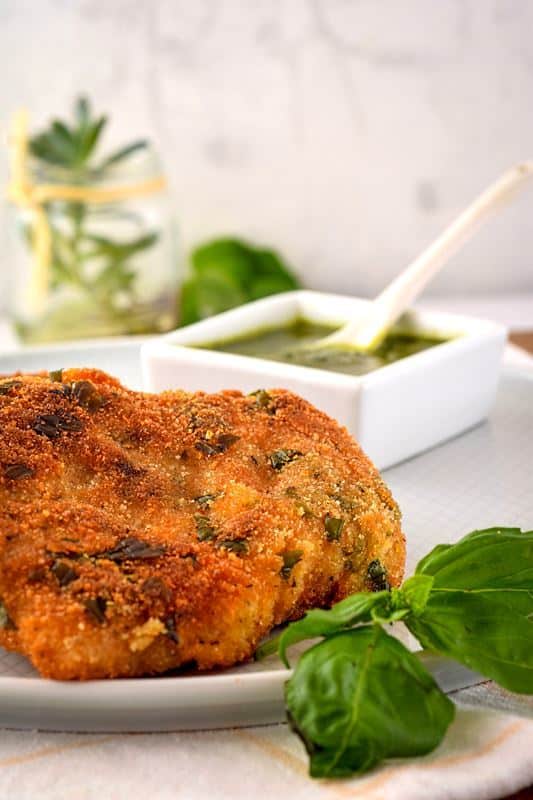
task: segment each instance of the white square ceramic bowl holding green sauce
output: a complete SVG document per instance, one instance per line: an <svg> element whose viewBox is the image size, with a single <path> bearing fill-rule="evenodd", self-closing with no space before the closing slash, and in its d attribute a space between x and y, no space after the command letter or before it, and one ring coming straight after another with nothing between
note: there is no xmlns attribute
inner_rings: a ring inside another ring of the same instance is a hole
<svg viewBox="0 0 533 800"><path fill-rule="evenodd" d="M362 376L195 347L296 317L340 326L368 302L322 292L287 292L178 329L142 347L145 388L244 393L289 389L345 425L380 469L486 417L496 393L506 330L472 317L410 312L410 328L449 341Z"/></svg>

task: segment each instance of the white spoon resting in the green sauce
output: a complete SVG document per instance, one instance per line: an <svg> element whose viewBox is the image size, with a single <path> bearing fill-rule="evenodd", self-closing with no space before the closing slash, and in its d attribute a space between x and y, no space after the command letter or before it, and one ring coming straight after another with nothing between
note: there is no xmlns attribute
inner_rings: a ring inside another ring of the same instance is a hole
<svg viewBox="0 0 533 800"><path fill-rule="evenodd" d="M429 281L493 214L514 199L533 175L533 161L525 161L503 175L474 200L446 230L412 261L362 314L335 333L302 349L331 345L370 352L418 297Z"/></svg>

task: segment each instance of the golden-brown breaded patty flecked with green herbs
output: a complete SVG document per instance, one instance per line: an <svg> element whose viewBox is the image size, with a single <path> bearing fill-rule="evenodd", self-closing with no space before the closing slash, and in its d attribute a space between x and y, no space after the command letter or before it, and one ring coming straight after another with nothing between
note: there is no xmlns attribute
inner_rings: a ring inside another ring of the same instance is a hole
<svg viewBox="0 0 533 800"><path fill-rule="evenodd" d="M45 677L227 667L404 558L377 470L294 394L0 381L0 644Z"/></svg>

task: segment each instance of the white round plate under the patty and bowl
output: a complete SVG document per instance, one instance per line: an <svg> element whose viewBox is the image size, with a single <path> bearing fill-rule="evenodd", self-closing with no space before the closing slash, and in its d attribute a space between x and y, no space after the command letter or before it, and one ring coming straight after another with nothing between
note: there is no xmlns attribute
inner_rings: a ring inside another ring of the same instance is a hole
<svg viewBox="0 0 533 800"><path fill-rule="evenodd" d="M0 374L93 366L141 388L139 342L39 348L0 356ZM439 542L475 528L533 528L533 377L507 370L488 420L386 472L404 514L408 572ZM471 674L436 660L444 689ZM0 726L78 731L152 731L277 722L288 673L271 658L220 674L66 683L39 678L0 649Z"/></svg>

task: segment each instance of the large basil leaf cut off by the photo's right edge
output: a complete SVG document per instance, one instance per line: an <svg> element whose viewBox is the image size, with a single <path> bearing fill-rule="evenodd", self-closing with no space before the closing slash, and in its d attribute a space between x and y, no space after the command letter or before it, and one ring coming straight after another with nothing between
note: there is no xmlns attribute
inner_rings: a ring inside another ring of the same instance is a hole
<svg viewBox="0 0 533 800"><path fill-rule="evenodd" d="M417 566L433 583L405 624L420 643L514 692L533 693L533 531L490 528Z"/></svg>

